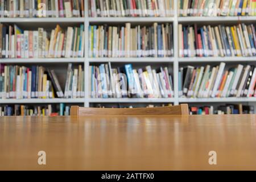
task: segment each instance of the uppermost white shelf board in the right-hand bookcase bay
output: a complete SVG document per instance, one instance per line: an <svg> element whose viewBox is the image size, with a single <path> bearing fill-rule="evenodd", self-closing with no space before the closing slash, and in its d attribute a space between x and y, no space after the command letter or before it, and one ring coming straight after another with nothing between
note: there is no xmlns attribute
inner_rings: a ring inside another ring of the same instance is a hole
<svg viewBox="0 0 256 182"><path fill-rule="evenodd" d="M256 21L256 16L188 16L178 17L178 22L250 22Z"/></svg>

